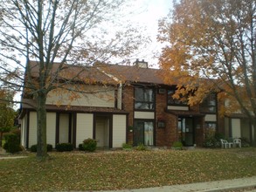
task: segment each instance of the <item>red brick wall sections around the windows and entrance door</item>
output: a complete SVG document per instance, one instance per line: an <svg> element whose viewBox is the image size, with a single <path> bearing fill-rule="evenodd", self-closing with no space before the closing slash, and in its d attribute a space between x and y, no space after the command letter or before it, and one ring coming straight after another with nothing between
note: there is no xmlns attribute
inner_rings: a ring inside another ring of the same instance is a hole
<svg viewBox="0 0 256 192"><path fill-rule="evenodd" d="M122 107L128 112L128 142L133 143L133 131L135 120L135 91L134 86L123 87L122 93ZM171 145L178 141L178 118L179 115L167 111L167 93L156 92L156 107L154 110L154 145L157 147L171 147ZM187 113L199 113L199 107L194 106ZM202 146L204 141L204 118L201 116L193 116L194 125L194 142L197 146ZM158 127L158 121L163 121L165 127Z"/></svg>

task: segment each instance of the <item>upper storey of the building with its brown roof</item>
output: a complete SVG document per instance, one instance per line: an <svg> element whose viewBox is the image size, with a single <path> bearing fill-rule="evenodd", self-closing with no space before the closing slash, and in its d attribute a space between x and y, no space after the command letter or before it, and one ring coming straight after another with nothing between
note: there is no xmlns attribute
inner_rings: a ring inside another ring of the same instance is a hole
<svg viewBox="0 0 256 192"><path fill-rule="evenodd" d="M33 62L31 65L37 65ZM57 64L58 65L58 64ZM145 61L136 60L134 65L93 65L80 72L80 79L69 77L79 70L70 67L63 72L63 78L56 84L46 99L47 105L88 106L119 109L128 113L195 113L207 114L209 120L216 119L218 113L217 94L211 93L200 105L189 106L185 97L176 99L176 85L164 82L159 69L148 67ZM33 68L33 78L37 79L37 67ZM65 84L64 81L69 81ZM24 99L34 99L24 93Z"/></svg>

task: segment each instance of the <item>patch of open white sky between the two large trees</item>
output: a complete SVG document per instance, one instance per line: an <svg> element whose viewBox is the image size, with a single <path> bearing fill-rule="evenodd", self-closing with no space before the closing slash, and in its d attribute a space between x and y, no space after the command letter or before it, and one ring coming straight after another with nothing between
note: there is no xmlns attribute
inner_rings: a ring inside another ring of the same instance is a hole
<svg viewBox="0 0 256 192"><path fill-rule="evenodd" d="M135 20L146 27L145 34L151 38L151 44L145 51L141 51L139 59L149 62L149 65L156 65L157 59L154 52L161 51L162 45L156 41L158 31L158 20L167 17L172 7L172 0L137 0L137 7L141 7L142 12L135 15Z"/></svg>

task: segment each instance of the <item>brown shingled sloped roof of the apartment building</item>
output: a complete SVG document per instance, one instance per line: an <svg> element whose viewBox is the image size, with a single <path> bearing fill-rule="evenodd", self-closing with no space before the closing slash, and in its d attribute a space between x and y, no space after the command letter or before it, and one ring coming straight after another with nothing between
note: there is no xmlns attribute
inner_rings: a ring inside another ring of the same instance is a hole
<svg viewBox="0 0 256 192"><path fill-rule="evenodd" d="M31 61L31 76L39 77L39 65ZM52 77L58 72L60 63L52 66ZM79 75L78 75L79 74ZM77 77L76 77L77 76ZM136 65L106 65L98 64L93 66L63 65L59 72L59 79L81 80L87 83L117 84L118 82L147 83L164 85L161 70L153 68L142 68ZM76 78L73 78L76 77Z"/></svg>

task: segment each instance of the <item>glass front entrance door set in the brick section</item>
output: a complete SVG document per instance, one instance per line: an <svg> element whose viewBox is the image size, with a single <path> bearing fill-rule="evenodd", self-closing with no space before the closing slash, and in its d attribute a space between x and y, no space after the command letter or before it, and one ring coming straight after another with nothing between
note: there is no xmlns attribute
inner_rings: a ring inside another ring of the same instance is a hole
<svg viewBox="0 0 256 192"><path fill-rule="evenodd" d="M194 126L192 118L178 119L178 139L184 146L194 145Z"/></svg>

